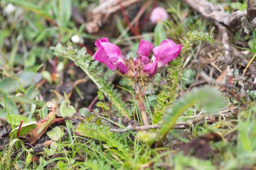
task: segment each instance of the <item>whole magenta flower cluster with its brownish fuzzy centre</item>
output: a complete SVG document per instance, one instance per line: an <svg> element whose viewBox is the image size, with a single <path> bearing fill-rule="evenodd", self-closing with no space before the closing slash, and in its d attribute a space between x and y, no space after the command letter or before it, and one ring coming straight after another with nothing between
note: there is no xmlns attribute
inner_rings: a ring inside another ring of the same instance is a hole
<svg viewBox="0 0 256 170"><path fill-rule="evenodd" d="M108 38L97 39L95 46L98 50L94 54L94 59L135 81L152 79L157 68L178 57L182 48L181 44L177 45L170 39L162 41L157 47L146 40L140 40L137 57L125 59L119 47L110 43Z"/></svg>

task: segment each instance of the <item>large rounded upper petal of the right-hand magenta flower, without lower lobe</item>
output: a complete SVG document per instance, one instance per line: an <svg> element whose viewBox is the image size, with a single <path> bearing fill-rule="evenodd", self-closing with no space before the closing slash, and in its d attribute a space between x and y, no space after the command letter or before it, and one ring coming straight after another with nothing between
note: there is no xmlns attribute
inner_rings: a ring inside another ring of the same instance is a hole
<svg viewBox="0 0 256 170"><path fill-rule="evenodd" d="M160 46L155 47L152 51L158 61L158 67L162 67L171 60L179 56L182 44L175 44L173 40L167 39L162 41Z"/></svg>

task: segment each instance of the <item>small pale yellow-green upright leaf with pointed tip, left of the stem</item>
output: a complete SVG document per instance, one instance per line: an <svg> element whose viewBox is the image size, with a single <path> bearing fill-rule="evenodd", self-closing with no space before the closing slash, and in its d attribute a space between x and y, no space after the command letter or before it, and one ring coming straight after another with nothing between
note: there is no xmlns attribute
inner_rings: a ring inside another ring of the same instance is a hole
<svg viewBox="0 0 256 170"><path fill-rule="evenodd" d="M64 101L60 107L61 115L63 117L71 117L75 113L73 106L70 106L70 101L68 100L66 94L64 93Z"/></svg>

